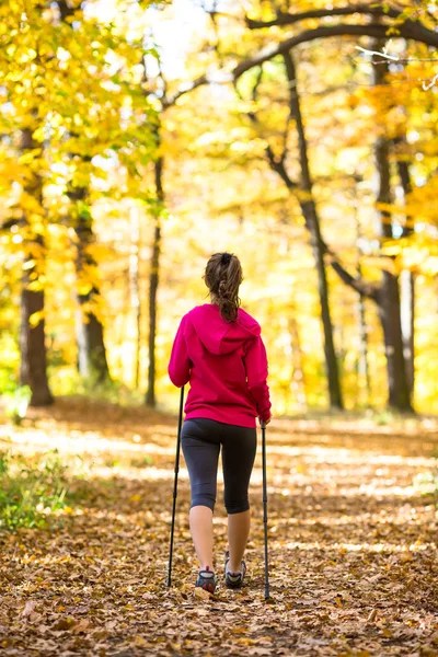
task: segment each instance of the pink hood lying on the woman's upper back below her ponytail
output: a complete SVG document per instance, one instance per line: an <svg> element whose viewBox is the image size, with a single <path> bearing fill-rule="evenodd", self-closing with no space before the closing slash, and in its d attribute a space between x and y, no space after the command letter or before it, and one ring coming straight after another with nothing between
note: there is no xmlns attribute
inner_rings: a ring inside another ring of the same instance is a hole
<svg viewBox="0 0 438 657"><path fill-rule="evenodd" d="M216 356L235 351L243 343L261 334L260 324L241 308L235 322L222 320L215 303L197 306L188 318L205 348Z"/></svg>

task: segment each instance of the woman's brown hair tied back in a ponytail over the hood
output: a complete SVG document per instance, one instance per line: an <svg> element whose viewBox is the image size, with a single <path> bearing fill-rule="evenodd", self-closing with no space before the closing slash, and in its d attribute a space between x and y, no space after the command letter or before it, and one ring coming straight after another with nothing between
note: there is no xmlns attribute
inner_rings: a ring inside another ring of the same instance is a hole
<svg viewBox="0 0 438 657"><path fill-rule="evenodd" d="M227 322L235 322L240 307L239 286L243 280L242 266L232 253L215 253L204 274L211 298Z"/></svg>

